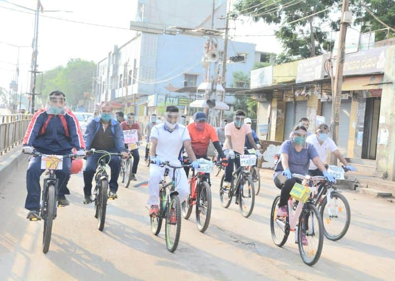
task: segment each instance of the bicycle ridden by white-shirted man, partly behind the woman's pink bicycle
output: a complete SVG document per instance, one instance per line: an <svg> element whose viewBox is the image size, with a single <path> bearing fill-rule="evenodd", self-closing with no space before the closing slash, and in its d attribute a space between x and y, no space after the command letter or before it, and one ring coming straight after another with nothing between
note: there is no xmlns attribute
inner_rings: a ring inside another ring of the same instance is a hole
<svg viewBox="0 0 395 281"><path fill-rule="evenodd" d="M327 165L325 166L328 168ZM345 172L349 171L344 166L339 168L342 168ZM321 214L324 236L331 241L340 240L346 235L350 227L350 204L341 192L333 186L333 183L312 181L313 185L318 187L318 194L314 197L314 204L318 207L318 211Z"/></svg>

